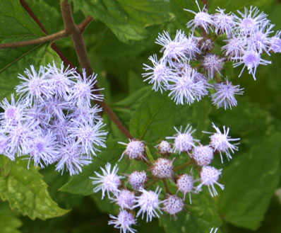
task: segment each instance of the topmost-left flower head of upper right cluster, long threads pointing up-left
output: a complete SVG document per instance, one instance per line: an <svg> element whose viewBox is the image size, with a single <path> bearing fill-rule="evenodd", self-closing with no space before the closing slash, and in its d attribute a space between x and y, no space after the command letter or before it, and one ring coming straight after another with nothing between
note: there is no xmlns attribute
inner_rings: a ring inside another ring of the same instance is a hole
<svg viewBox="0 0 281 233"><path fill-rule="evenodd" d="M196 0L196 4L198 6L199 12L196 13L195 11L191 11L189 9L185 9L186 11L189 11L191 13L194 13L194 19L189 21L187 23L187 27L191 28L191 31L194 32L196 28L203 28L206 33L209 33L209 29L212 30L211 26L213 25L214 21L212 19L212 16L210 16L207 12L207 8L204 6L202 11L198 4L198 1Z"/></svg>

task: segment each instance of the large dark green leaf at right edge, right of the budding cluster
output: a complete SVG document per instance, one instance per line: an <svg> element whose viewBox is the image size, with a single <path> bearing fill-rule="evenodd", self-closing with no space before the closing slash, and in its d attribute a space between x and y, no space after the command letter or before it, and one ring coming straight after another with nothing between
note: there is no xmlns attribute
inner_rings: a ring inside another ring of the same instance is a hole
<svg viewBox="0 0 281 233"><path fill-rule="evenodd" d="M219 207L225 221L252 230L260 226L280 181L280 140L273 134L223 171L226 188Z"/></svg>

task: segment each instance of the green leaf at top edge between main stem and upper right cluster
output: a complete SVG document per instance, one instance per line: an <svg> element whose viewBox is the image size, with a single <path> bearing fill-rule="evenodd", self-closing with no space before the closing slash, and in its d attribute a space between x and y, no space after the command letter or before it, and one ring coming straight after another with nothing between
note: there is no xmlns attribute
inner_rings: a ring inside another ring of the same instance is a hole
<svg viewBox="0 0 281 233"><path fill-rule="evenodd" d="M75 11L105 23L122 42L141 40L148 36L145 27L174 17L166 0L72 0Z"/></svg>

